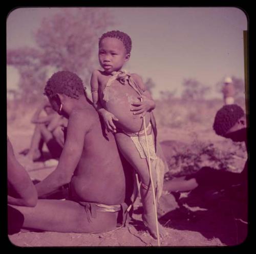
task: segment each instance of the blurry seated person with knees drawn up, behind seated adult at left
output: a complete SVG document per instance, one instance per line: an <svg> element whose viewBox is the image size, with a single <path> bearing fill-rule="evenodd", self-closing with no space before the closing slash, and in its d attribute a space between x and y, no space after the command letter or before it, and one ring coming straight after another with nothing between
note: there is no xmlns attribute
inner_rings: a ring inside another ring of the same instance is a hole
<svg viewBox="0 0 256 254"><path fill-rule="evenodd" d="M47 116L40 117L42 110L45 110ZM34 113L31 123L36 124L36 126L30 149L23 151L22 154L36 161L42 157L42 146L46 143L51 156L59 158L64 145L62 128L67 126L67 119L59 116L52 109L50 103L44 100Z"/></svg>

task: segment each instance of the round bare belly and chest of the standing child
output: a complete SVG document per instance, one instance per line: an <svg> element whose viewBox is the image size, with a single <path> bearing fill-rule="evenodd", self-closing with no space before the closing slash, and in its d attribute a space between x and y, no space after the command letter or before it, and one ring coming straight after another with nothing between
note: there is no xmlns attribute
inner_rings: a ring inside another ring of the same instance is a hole
<svg viewBox="0 0 256 254"><path fill-rule="evenodd" d="M108 94L108 101L102 100L102 103L105 109L118 119L118 121L114 121L117 128L129 132L143 130L141 114L133 114L136 111L131 111L135 107L132 103L140 101L139 95L131 86L115 82L104 92ZM150 113L148 112L145 114L145 121L147 126L150 122Z"/></svg>

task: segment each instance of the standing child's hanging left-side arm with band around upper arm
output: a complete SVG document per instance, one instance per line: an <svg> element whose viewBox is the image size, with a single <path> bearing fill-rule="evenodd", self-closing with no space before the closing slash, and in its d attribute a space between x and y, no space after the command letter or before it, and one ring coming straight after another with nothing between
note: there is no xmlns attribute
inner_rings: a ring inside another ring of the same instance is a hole
<svg viewBox="0 0 256 254"><path fill-rule="evenodd" d="M118 121L118 119L114 116L114 114L104 109L99 101L98 75L99 75L98 71L95 70L91 77L91 91L92 91L93 106L98 111L99 115L103 118L106 129L108 131L116 132L116 126L113 123L113 120Z"/></svg>

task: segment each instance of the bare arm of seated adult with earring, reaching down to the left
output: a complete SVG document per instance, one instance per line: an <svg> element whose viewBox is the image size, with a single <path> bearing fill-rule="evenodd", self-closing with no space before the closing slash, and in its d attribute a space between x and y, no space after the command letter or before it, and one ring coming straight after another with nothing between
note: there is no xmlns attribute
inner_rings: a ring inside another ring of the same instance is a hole
<svg viewBox="0 0 256 254"><path fill-rule="evenodd" d="M87 119L87 121L84 121ZM67 139L57 168L44 180L36 184L38 197L57 190L71 181L82 154L84 137L89 130L90 117L86 110L73 111L69 117Z"/></svg>

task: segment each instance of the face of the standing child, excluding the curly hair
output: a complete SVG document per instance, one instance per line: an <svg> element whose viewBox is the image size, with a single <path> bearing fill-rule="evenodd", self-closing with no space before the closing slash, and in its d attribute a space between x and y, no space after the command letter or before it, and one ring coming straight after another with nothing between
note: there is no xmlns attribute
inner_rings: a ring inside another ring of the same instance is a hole
<svg viewBox="0 0 256 254"><path fill-rule="evenodd" d="M99 63L107 73L119 71L128 61L130 54L126 54L123 42L117 38L106 37L99 45Z"/></svg>

